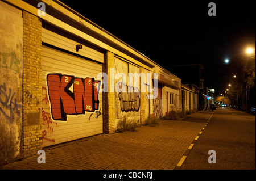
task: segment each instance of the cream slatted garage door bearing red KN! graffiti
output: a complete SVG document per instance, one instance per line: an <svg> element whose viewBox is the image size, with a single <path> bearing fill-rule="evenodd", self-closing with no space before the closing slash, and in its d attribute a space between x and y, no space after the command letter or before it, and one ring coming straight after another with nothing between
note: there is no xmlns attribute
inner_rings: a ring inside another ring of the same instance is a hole
<svg viewBox="0 0 256 181"><path fill-rule="evenodd" d="M43 147L102 133L102 64L42 46Z"/></svg>

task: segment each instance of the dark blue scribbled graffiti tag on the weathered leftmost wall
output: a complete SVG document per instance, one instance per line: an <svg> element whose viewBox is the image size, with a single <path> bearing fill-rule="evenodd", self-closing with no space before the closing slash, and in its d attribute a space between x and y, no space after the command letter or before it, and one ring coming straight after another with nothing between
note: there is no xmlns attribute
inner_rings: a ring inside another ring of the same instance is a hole
<svg viewBox="0 0 256 181"><path fill-rule="evenodd" d="M7 89L5 82L0 85L0 112L10 123L13 123L15 113L20 116L19 108L22 107L22 105L17 104L15 94L16 92L13 92L11 88Z"/></svg>

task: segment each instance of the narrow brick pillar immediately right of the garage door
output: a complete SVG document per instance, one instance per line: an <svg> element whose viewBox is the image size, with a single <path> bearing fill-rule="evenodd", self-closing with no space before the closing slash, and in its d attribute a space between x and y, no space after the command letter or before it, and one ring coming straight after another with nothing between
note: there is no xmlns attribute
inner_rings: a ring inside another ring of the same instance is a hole
<svg viewBox="0 0 256 181"><path fill-rule="evenodd" d="M115 93L110 92L110 68L114 68L114 53L107 51L104 59L104 72L108 74L108 92L103 92L103 127L104 133L111 134L115 132Z"/></svg>

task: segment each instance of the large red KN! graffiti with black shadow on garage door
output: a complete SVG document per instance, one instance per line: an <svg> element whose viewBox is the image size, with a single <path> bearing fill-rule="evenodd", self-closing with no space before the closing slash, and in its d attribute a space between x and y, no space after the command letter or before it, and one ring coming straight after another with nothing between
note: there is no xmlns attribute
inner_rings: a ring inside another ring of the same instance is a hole
<svg viewBox="0 0 256 181"><path fill-rule="evenodd" d="M94 78L48 74L47 86L53 120L67 121L67 115L99 110L98 86Z"/></svg>

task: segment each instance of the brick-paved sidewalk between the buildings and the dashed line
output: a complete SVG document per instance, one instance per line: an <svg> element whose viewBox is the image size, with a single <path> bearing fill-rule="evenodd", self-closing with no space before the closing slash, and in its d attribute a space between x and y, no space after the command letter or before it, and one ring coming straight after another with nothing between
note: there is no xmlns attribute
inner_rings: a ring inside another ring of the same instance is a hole
<svg viewBox="0 0 256 181"><path fill-rule="evenodd" d="M161 120L135 132L100 134L45 148L46 163L39 164L39 155L34 155L0 169L173 170L212 113L197 112L184 121Z"/></svg>

